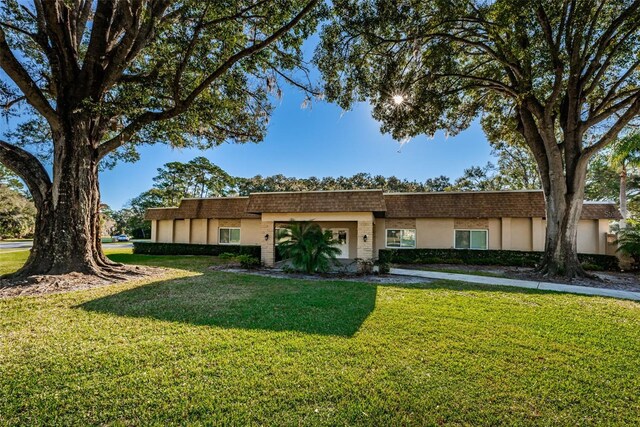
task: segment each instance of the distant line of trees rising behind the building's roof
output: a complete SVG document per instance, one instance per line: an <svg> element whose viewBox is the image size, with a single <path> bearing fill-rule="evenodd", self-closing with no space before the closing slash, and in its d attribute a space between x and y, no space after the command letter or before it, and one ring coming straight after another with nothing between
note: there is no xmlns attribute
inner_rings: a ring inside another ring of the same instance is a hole
<svg viewBox="0 0 640 427"><path fill-rule="evenodd" d="M539 189L535 162L528 151L518 145L496 146L496 163L472 166L455 180L441 175L425 181L385 177L361 172L352 176L295 178L282 174L251 178L233 177L205 157L181 163L170 162L158 168L153 188L131 199L123 209L103 205L105 220L112 224L111 234L124 232L136 238L148 238L151 228L144 213L153 207L177 206L183 198L246 196L250 193L276 191L356 190L379 188L385 192L491 191ZM611 150L596 156L587 185L587 199L617 200L619 174L610 161ZM631 217L640 213L640 176L629 173L629 208Z"/></svg>

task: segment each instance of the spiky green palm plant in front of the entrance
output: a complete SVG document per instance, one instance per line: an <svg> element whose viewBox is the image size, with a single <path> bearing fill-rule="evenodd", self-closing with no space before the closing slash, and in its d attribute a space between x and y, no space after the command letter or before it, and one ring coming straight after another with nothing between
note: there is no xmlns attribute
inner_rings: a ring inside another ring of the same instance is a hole
<svg viewBox="0 0 640 427"><path fill-rule="evenodd" d="M283 227L278 245L284 259L306 273L326 272L340 254L331 230L310 221L291 222Z"/></svg>

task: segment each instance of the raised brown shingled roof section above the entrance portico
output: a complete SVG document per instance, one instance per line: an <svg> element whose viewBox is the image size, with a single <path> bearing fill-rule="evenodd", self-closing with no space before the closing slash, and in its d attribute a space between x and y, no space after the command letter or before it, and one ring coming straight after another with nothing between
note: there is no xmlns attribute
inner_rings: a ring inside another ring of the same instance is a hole
<svg viewBox="0 0 640 427"><path fill-rule="evenodd" d="M249 212L384 212L382 190L254 193Z"/></svg>

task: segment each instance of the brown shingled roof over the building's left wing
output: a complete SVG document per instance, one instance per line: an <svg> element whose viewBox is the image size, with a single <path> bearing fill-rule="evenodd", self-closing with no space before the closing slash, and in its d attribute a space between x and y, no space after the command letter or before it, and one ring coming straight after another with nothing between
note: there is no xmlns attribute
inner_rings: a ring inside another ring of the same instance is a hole
<svg viewBox="0 0 640 427"><path fill-rule="evenodd" d="M211 199L183 199L178 208L147 210L145 219L171 218L260 218L247 212L248 197L216 197Z"/></svg>

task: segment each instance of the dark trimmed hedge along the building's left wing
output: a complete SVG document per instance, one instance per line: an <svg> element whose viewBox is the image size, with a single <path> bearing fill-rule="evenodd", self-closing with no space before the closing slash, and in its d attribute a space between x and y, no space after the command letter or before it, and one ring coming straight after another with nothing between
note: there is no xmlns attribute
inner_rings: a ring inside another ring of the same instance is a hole
<svg viewBox="0 0 640 427"><path fill-rule="evenodd" d="M223 253L250 255L260 259L260 246L194 245L188 243L133 242L133 253L143 255L211 255Z"/></svg>

